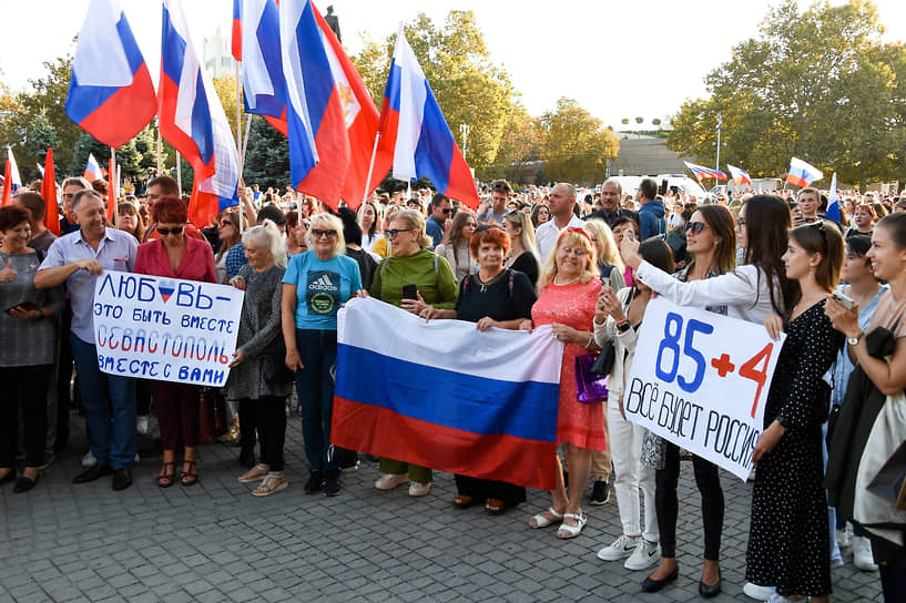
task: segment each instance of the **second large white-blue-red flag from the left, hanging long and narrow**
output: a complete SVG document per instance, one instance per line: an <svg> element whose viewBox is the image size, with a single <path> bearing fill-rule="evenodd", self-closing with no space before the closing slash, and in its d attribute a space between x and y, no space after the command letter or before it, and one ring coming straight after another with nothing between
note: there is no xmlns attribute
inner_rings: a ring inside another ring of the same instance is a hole
<svg viewBox="0 0 906 603"><path fill-rule="evenodd" d="M163 2L157 119L161 135L194 170L189 217L206 225L238 204L238 154L223 105L202 69L177 0Z"/></svg>

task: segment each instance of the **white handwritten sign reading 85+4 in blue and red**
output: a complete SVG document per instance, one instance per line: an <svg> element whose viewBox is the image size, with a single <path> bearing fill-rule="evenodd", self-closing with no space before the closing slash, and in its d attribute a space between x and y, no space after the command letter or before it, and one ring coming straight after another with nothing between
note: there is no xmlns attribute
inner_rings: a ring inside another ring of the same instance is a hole
<svg viewBox="0 0 906 603"><path fill-rule="evenodd" d="M746 479L783 338L774 341L761 325L651 300L623 395L627 419Z"/></svg>

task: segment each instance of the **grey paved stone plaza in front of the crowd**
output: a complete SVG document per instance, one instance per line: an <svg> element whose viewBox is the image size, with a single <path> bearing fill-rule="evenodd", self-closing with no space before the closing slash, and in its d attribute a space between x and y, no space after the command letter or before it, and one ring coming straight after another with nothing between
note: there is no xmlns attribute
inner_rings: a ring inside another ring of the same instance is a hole
<svg viewBox="0 0 906 603"><path fill-rule="evenodd" d="M73 426L82 420L73 417ZM73 486L86 450L81 432L35 489L0 490L0 602L184 601L700 601L701 514L692 466L682 463L680 580L640 592L645 572L604 563L594 553L619 535L615 502L583 504L589 525L574 540L554 528L531 530L544 492L502 517L452 507L452 476L435 473L431 493L373 488L376 463L343 477L336 498L306 495L301 421L287 428L287 490L250 495L240 484L238 449L200 448L201 481L161 490L159 458L135 467L124 492L110 478ZM742 594L751 486L724 473L724 594ZM880 601L877 574L834 570L832 601Z"/></svg>

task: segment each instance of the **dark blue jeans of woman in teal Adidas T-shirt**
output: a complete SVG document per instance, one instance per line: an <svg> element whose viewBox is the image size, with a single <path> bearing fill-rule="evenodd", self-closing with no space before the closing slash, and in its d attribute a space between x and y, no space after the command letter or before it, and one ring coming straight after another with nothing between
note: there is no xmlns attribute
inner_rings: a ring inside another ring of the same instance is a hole
<svg viewBox="0 0 906 603"><path fill-rule="evenodd" d="M296 371L305 456L312 471L332 471L339 463L339 454L329 453L337 331L296 329L296 347L305 367Z"/></svg>

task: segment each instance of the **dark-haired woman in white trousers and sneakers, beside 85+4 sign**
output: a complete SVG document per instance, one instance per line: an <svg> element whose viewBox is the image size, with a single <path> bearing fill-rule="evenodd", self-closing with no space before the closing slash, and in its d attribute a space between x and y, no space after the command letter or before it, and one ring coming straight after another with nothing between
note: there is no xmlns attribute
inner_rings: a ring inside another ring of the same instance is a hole
<svg viewBox="0 0 906 603"><path fill-rule="evenodd" d="M673 253L661 239L649 239L639 253L653 266L663 270L673 267ZM642 442L647 430L625 419L623 392L632 371L635 357L638 329L642 325L648 303L653 292L643 283L613 292L601 289L594 310L594 340L603 347L613 343L614 361L608 380L607 426L611 460L613 461L613 490L623 533L610 545L598 551L598 559L618 561L627 559L629 570L644 570L656 560L660 551L660 531L654 502L654 471L641 462ZM639 491L644 498L644 529L640 525Z"/></svg>

